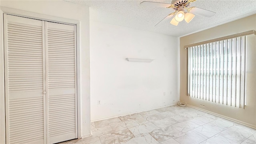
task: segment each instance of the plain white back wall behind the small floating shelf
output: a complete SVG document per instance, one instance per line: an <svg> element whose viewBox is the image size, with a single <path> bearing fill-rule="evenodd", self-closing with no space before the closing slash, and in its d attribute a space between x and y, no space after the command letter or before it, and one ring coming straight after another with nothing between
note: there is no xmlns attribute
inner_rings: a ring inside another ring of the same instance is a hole
<svg viewBox="0 0 256 144"><path fill-rule="evenodd" d="M177 103L178 50L176 37L90 21L91 120Z"/></svg>

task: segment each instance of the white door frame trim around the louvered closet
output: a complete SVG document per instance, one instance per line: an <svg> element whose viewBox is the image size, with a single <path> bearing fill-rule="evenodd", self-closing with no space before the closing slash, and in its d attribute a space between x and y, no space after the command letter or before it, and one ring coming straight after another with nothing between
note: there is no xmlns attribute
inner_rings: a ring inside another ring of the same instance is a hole
<svg viewBox="0 0 256 144"><path fill-rule="evenodd" d="M1 142L6 143L6 121L5 121L5 68L4 68L4 14L10 14L14 16L21 16L25 18L33 18L36 20L44 20L48 22L57 22L61 24L71 24L76 26L76 75L77 75L77 134L78 138L82 137L81 131L81 96L80 96L80 83L81 83L81 74L80 74L80 21L70 20L66 18L60 18L56 16L49 16L44 14L38 14L23 10L17 10L13 8L0 7L0 139ZM3 140L4 139L4 140Z"/></svg>

